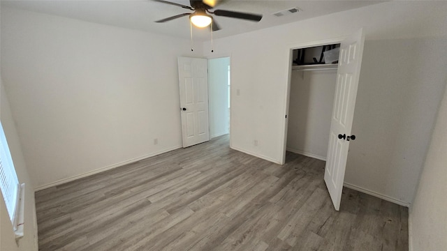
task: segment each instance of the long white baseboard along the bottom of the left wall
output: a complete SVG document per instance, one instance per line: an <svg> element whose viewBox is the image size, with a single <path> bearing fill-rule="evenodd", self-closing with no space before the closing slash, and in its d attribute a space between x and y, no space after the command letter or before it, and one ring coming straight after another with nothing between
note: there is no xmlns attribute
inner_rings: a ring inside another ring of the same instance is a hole
<svg viewBox="0 0 447 251"><path fill-rule="evenodd" d="M131 160L126 160L126 161L123 161L123 162L119 162L117 164L109 165L107 167L101 167L99 169L95 169L93 171L86 172L84 174L78 174L78 175L75 175L75 176L71 176L70 178L62 178L59 181L54 181L52 183L47 183L45 185L39 185L38 187L34 188L34 191L37 192L39 190L44 190L46 188L51 188L51 187L53 187L55 185L61 185L61 184L64 184L64 183L68 183L70 181L75 181L75 180L77 180L79 178L84 178L84 177L87 177L87 176L90 176L90 175L93 175L93 174L98 174L100 172L105 172L107 170L114 169L116 167L122 167L124 165L131 164L133 162L137 162L139 160L144 160L145 158L154 157L155 155L160 155L162 153L167 153L167 152L170 152L170 151L173 151L173 150L176 150L176 149L180 149L180 148L182 148L182 146L175 146L175 147L170 148L170 149L165 149L163 151L159 151L159 152L156 152L156 153L151 153L151 154L144 155L144 156L141 156L141 157L138 157L138 158L133 158Z"/></svg>

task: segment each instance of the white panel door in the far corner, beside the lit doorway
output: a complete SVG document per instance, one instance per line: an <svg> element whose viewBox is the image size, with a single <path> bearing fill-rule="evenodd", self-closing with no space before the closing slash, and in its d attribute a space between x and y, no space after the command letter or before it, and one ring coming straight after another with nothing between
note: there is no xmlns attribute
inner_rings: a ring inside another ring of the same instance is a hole
<svg viewBox="0 0 447 251"><path fill-rule="evenodd" d="M207 59L179 56L183 147L210 140Z"/></svg>

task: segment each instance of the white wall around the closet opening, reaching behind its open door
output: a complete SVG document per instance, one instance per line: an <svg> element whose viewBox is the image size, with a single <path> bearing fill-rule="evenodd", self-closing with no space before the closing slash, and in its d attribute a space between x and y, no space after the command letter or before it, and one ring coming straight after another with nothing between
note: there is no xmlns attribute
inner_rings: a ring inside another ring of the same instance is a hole
<svg viewBox="0 0 447 251"><path fill-rule="evenodd" d="M420 11L422 9L424 11ZM445 53L439 52L433 59L424 58L423 53L434 56L432 52L446 47L444 40L436 39L447 36L446 12L447 2L444 1L391 1L214 40L216 52L232 55L230 137L233 148L281 162L289 49L312 41L348 36L363 27L367 41L357 105L366 106L370 112L356 109L353 132L358 139L351 144L351 149L370 147L366 152L349 153L346 181L377 195L402 201L402 204L410 203L427 149L427 135L434 121L435 114L430 107L439 104L439 93L445 85L441 79L446 76L445 69L441 69L446 65ZM395 47L396 41L402 42L402 47ZM406 50L406 45L411 45L411 52ZM210 55L209 48L209 43L205 43L205 55ZM387 59L399 60L390 66L384 60L371 59L375 52L383 55L381 50L390 53ZM374 63L388 68L377 66L382 72L368 68ZM425 71L427 68L430 69ZM374 86L369 86L372 84ZM236 95L237 90L240 96ZM387 105L386 109L383 104ZM395 124L397 119L393 116L399 111L400 123ZM372 114L380 119L370 121L368 117ZM375 128L383 128L388 118L391 123L386 128L396 135L385 140L383 135L369 137ZM362 142L362 137L367 137L368 141ZM254 146L254 139L258 139L258 146ZM362 158L363 154L369 157Z"/></svg>

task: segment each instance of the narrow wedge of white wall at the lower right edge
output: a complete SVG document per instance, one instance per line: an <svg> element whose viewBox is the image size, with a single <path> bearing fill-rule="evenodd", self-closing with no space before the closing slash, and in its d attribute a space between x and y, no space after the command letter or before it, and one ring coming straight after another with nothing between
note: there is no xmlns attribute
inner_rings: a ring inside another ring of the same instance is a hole
<svg viewBox="0 0 447 251"><path fill-rule="evenodd" d="M447 250L447 89L409 213L410 248Z"/></svg>

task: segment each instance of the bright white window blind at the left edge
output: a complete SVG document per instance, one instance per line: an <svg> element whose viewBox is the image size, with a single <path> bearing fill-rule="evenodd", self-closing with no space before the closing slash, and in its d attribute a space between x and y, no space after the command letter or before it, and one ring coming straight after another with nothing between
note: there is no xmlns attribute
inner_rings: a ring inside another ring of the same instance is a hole
<svg viewBox="0 0 447 251"><path fill-rule="evenodd" d="M13 222L14 229L16 227L15 215L17 211L17 204L19 201L19 181L13 160L6 142L3 126L0 123L0 188L5 200L6 208L8 209L9 217Z"/></svg>

